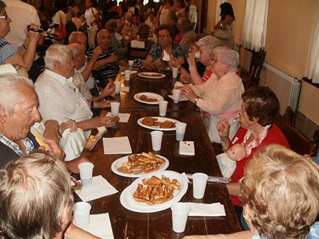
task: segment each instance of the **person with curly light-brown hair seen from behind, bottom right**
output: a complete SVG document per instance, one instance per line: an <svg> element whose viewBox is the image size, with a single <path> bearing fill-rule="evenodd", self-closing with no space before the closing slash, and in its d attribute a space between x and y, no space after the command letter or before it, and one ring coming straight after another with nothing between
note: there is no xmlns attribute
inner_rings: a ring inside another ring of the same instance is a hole
<svg viewBox="0 0 319 239"><path fill-rule="evenodd" d="M319 168L279 145L254 154L241 182L244 216L250 231L190 238L319 238Z"/></svg>

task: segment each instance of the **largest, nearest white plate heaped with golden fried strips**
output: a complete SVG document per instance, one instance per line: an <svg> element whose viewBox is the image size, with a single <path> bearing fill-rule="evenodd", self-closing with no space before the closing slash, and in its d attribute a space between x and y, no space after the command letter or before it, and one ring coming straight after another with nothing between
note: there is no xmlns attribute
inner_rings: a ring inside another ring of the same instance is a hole
<svg viewBox="0 0 319 239"><path fill-rule="evenodd" d="M130 211L162 211L179 202L188 187L185 177L180 173L170 170L149 173L126 187L120 202Z"/></svg>

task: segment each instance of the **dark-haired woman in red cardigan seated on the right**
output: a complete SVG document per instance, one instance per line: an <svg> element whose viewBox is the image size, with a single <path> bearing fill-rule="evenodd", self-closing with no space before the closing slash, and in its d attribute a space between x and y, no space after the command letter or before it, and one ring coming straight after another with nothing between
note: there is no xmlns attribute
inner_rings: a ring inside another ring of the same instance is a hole
<svg viewBox="0 0 319 239"><path fill-rule="evenodd" d="M227 120L218 123L217 130L223 150L227 150L235 143L244 145L247 150L246 158L237 161L237 168L231 177L233 183L227 185L237 214L241 214L242 211L242 202L238 198L240 194L238 181L244 175L245 165L254 152L267 144L281 144L289 148L286 137L274 124L278 111L279 100L274 92L269 88L256 86L242 94L242 107L239 110L241 128L235 136L230 136L230 123Z"/></svg>

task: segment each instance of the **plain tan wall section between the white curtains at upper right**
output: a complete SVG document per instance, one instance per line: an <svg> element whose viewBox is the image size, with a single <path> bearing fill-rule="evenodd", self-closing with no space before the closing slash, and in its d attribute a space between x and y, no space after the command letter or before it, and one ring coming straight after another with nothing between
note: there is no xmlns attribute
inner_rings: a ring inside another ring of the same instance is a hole
<svg viewBox="0 0 319 239"><path fill-rule="evenodd" d="M267 23L267 62L302 77L308 64L318 0L270 1Z"/></svg>

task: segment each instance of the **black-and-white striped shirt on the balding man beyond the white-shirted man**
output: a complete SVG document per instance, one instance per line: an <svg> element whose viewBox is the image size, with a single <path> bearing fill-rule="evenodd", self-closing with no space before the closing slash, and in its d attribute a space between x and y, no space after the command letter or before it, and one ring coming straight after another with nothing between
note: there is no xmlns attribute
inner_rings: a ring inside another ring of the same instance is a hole
<svg viewBox="0 0 319 239"><path fill-rule="evenodd" d="M96 46L91 47L91 49L86 52L88 61L91 59L92 52L95 47ZM97 60L99 61L101 59L106 59L108 57L111 57L113 54L116 54L116 52L113 47L109 46L108 52L103 51ZM104 88L108 84L108 78L112 78L113 80L115 80L119 70L120 66L118 65L118 62L111 62L101 66L99 69L92 71L92 75L94 76L96 83Z"/></svg>

